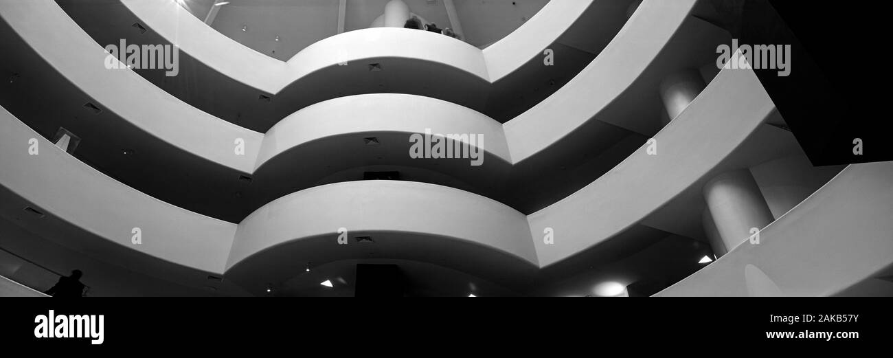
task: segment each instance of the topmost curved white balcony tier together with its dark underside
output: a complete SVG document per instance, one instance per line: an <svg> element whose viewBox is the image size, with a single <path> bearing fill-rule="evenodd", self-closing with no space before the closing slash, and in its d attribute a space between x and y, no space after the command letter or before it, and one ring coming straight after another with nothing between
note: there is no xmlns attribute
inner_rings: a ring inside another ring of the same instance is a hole
<svg viewBox="0 0 893 358"><path fill-rule="evenodd" d="M179 75L136 71L204 112L262 132L308 105L382 92L430 96L508 121L590 62L622 28L632 2L551 2L485 51L427 31L375 28L321 39L280 61L218 33L177 4L101 1L60 4L100 44L179 45ZM543 65L547 48L560 59L554 66ZM380 71L370 71L372 63ZM494 71L503 74L493 77ZM271 100L258 101L262 95Z"/></svg>

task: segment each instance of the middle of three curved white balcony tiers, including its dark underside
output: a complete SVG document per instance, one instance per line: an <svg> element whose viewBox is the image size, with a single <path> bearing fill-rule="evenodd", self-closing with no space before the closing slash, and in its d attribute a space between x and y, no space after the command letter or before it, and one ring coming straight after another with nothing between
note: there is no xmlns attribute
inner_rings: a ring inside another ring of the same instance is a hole
<svg viewBox="0 0 893 358"><path fill-rule="evenodd" d="M646 2L640 10L630 19L622 33L614 39L612 44L605 48L597 61L591 63L582 71L577 79L568 84L555 95L539 104L533 110L525 112L513 121L500 126L496 121L475 112L438 100L431 100L421 96L408 95L364 95L348 96L315 104L298 111L271 129L266 135L240 129L228 122L214 119L207 113L200 112L184 104L172 96L163 93L140 79L131 71L109 71L100 67L100 58L106 54L85 36L82 30L68 19L65 14L52 2L36 1L27 4L6 4L4 6L4 19L8 21L27 43L40 54L46 61L54 64L61 73L83 90L98 104L105 106L108 115L118 115L124 119L119 123L110 118L109 129L104 133L115 133L115 139L120 142L153 143L159 138L163 143L180 148L190 155L182 155L179 151L164 150L163 147L153 146L146 151L154 158L146 159L143 164L146 168L155 166L164 167L171 174L164 178L188 178L196 185L190 190L190 195L199 195L204 191L208 193L240 193L251 197L254 207L266 204L269 200L284 195L288 192L285 178L291 178L289 185L295 185L294 178L299 178L303 184L298 184L296 189L310 187L318 180L336 174L338 171L349 169L345 166L338 168L323 168L313 165L298 168L294 165L296 160L306 161L307 154L299 153L302 146L316 145L321 150L326 147L349 145L350 140L361 143L363 134L370 136L391 136L388 147L380 154L382 162L403 166L405 168L418 168L419 170L435 170L454 176L468 185L453 184L450 180L430 179L435 183L442 183L472 191L491 197L501 197L493 188L504 187L501 181L510 177L509 172L542 173L544 162L555 162L556 157L568 157L568 151L586 153L582 156L575 155L580 162L591 161L597 154L604 151L604 147L595 147L593 140L599 143L616 141L616 136L626 134L653 132L658 126L658 114L660 101L656 96L651 96L655 91L656 82L663 74L673 71L677 67L692 66L706 62L705 55L712 56L712 51L704 48L713 46L716 38L722 38L722 31L712 28L703 21L689 16L694 1L680 1L672 3ZM49 23L59 23L65 27L64 31L44 31L41 26L35 25L30 19L38 16L44 19L52 19ZM656 30L655 30L656 29ZM396 29L392 29L396 30ZM421 31L419 31L421 32ZM662 34L662 35L649 35ZM61 41L64 46L57 46L54 38L64 36ZM649 41L632 41L632 37L646 36ZM447 39L449 39L447 37ZM694 44L694 45L692 45ZM88 50L92 49L91 50ZM72 52L78 56L70 56ZM690 53L700 53L692 56ZM684 55L678 55L684 54ZM623 54L637 54L630 58L624 58ZM76 70L77 69L77 70ZM619 70L616 70L619 69ZM616 71L614 71L616 70ZM640 73L641 72L641 73ZM637 75L637 73L640 73ZM36 76L49 76L49 74L35 74ZM47 82L50 80L47 79ZM114 88L129 88L132 90L115 90ZM62 90L54 88L54 90ZM153 94L148 98L145 93ZM77 98L77 94L64 93L60 96ZM650 98L643 102L641 98ZM157 98L157 99L156 99ZM370 99L381 101L380 104L372 104ZM75 100L76 101L76 100ZM394 108L388 108L388 105ZM78 107L80 104L71 104ZM405 109L400 113L398 108ZM631 115L618 115L618 113L631 112ZM414 114L416 118L410 120L407 115ZM84 124L70 119L55 119L45 115L35 115L41 121L61 121L68 129L78 131ZM365 117L365 118L364 118ZM453 118L449 118L453 117ZM197 118L193 120L193 118ZM323 119L338 118L328 121ZM362 121L357 121L363 118ZM643 121L642 119L646 119ZM217 123L217 124L215 124ZM122 124L122 127L115 128ZM219 124L219 125L218 125ZM44 124L46 125L46 124ZM628 129L617 129L616 126ZM32 126L36 126L32 124ZM139 130L133 130L135 126ZM421 133L423 129L433 129L435 133L473 133L482 134L487 145L489 161L485 161L483 170L475 170L467 165L453 164L439 165L426 161L411 161L407 155L405 138L411 131ZM421 129L421 130L420 130ZM150 136L144 136L141 131ZM624 132L623 130L631 130ZM84 140L108 142L107 135L94 132L93 129L78 131ZM129 135L129 137L125 136ZM93 137L96 136L96 137ZM294 136L294 137L292 137ZM360 136L360 137L358 137ZM245 155L234 153L234 142L243 140L245 143ZM402 144L401 144L402 143ZM396 144L396 146L394 146ZM123 146L124 144L121 144ZM600 145L599 145L600 146ZM117 152L117 151L115 151ZM321 153L330 153L321 152ZM369 166L368 161L362 162L359 152L346 153L350 158L341 158L339 163L353 163L354 167ZM108 154L99 154L108 155ZM617 154L612 154L617 157ZM177 158L171 165L169 158ZM264 165L274 158L278 158L277 165ZM530 160L537 158L537 160ZM103 164L111 159L90 157L90 162ZM204 160L202 160L204 159ZM496 159L496 160L493 160ZM154 162L153 162L154 161ZM571 166L580 165L580 162L567 163ZM184 163L180 164L180 163ZM523 163L523 165L515 165ZM194 171L208 164L219 164L226 170ZM562 163L562 165L567 165ZM182 165L182 166L180 166ZM293 168L289 168L288 166ZM223 173L221 175L221 173ZM270 173L270 174L268 174ZM272 173L279 173L274 175ZM289 175L280 175L287 173ZM263 182L266 190L259 195L246 193L239 187L238 176L251 174L256 182ZM126 175L126 174L122 174ZM538 175L538 174L537 174ZM593 174L596 175L596 174ZM420 180L429 180L430 176L419 174ZM173 200L176 195L164 195L150 190L151 187L178 187L173 185L158 185L152 183L141 184L145 176L133 176L122 178L132 183L135 187L146 188L147 192L166 200ZM159 177L152 177L159 179ZM595 177L592 177L595 178ZM586 181L588 182L588 181ZM214 183L207 185L207 183ZM583 182L580 183L583 185ZM491 188L488 188L491 187ZM164 189L167 190L167 189ZM555 195L566 195L556 193ZM212 203L217 194L206 196L205 202L212 207L231 206L227 203ZM243 196L244 197L244 196ZM548 200L543 199L543 200ZM522 204L523 205L523 204ZM541 207L541 206L540 206ZM196 209L203 210L203 209ZM203 210L204 212L204 210ZM241 219L246 213L230 212L225 217ZM241 216L239 216L241 215ZM216 217L224 217L215 214ZM230 219L230 221L238 221Z"/></svg>

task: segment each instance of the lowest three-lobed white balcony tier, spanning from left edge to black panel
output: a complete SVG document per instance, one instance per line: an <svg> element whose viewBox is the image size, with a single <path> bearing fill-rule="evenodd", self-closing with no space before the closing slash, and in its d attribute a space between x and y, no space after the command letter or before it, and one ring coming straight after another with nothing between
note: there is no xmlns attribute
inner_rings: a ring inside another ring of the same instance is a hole
<svg viewBox="0 0 893 358"><path fill-rule="evenodd" d="M384 237L386 245L377 246L381 251L373 250L382 256L436 262L511 282L529 279L537 267L592 252L608 241L623 246L626 238L618 238L625 230L730 158L754 155L745 143L773 113L774 105L752 71L722 71L686 112L655 137L661 148L658 155L648 155L643 147L588 187L529 216L455 188L372 180L284 196L237 226L126 187L74 160L8 112L4 112L0 165L9 171L0 173L0 183L28 203L88 231L89 237L102 238L84 242L55 238L60 245L84 249L105 243L99 246L114 249L104 250L131 252L105 259L132 270L139 268L132 267L130 256L147 254L199 271L231 271L247 289L256 290L280 274L271 269L280 266L271 262L288 264L295 255L322 262L362 257L363 249L357 245L338 246L338 229L346 228L354 235ZM29 138L38 140L39 155L29 155ZM67 175L54 175L56 171ZM79 190L57 195L67 187ZM642 200L630 203L631 193ZM129 242L134 227L142 229L141 246ZM555 242L561 245L541 242L546 228L553 229ZM438 254L432 256L433 252ZM480 262L488 260L506 262L511 268L506 272L512 274L506 277L505 272L480 268Z"/></svg>

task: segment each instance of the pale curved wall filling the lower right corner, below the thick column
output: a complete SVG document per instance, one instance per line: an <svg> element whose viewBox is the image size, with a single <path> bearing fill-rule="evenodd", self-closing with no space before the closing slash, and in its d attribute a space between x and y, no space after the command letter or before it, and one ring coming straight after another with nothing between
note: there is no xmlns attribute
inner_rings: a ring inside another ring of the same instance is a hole
<svg viewBox="0 0 893 358"><path fill-rule="evenodd" d="M831 296L893 264L893 162L853 164L745 242L655 296Z"/></svg>

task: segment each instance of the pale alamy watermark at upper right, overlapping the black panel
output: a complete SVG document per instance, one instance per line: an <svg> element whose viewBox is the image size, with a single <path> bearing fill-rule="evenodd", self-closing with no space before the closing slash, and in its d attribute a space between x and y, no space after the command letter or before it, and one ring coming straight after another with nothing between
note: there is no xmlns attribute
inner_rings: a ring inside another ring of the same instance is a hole
<svg viewBox="0 0 893 358"><path fill-rule="evenodd" d="M790 76L790 45L741 45L738 39L731 46L716 46L716 67L720 70L778 70L779 77Z"/></svg>

